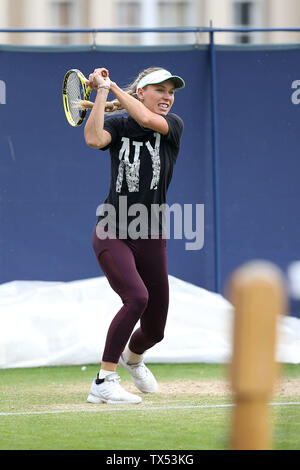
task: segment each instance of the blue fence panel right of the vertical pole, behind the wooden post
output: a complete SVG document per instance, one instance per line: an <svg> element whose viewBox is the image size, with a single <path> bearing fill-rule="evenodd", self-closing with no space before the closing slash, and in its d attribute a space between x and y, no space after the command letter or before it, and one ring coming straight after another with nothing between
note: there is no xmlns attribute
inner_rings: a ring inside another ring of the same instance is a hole
<svg viewBox="0 0 300 470"><path fill-rule="evenodd" d="M300 256L299 52L217 51L223 285L247 260L285 271Z"/></svg>

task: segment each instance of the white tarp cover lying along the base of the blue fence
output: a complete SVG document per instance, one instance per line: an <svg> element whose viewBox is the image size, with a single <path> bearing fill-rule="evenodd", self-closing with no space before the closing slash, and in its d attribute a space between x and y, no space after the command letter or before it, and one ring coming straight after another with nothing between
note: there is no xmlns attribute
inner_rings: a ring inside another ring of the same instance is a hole
<svg viewBox="0 0 300 470"><path fill-rule="evenodd" d="M146 362L231 360L233 310L221 295L169 276L164 340ZM0 368L98 364L121 300L105 277L0 285ZM300 319L278 324L277 360L300 362Z"/></svg>

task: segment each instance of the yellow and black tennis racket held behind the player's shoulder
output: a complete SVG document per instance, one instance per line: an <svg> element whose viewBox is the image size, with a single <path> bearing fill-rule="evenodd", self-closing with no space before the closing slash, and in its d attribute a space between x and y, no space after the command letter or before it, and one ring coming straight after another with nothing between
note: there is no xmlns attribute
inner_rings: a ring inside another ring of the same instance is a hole
<svg viewBox="0 0 300 470"><path fill-rule="evenodd" d="M107 71L101 72L107 77ZM71 69L63 80L63 104L68 123L71 126L80 126L85 120L88 108L93 107L89 100L93 88L86 84L87 78L78 69Z"/></svg>

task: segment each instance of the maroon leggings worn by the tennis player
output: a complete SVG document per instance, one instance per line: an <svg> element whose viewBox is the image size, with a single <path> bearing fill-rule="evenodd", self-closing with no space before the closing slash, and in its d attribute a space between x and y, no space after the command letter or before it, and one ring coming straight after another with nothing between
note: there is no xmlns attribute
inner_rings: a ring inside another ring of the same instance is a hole
<svg viewBox="0 0 300 470"><path fill-rule="evenodd" d="M93 248L123 302L108 329L102 356L102 361L118 363L129 338L129 349L143 354L164 337L169 306L166 240L101 240L95 228ZM140 327L132 334L138 320Z"/></svg>

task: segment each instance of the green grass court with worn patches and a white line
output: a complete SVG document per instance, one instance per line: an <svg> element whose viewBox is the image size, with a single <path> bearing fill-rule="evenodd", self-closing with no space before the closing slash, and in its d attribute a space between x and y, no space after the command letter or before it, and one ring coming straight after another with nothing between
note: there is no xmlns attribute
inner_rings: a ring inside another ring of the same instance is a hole
<svg viewBox="0 0 300 470"><path fill-rule="evenodd" d="M0 370L0 449L229 449L228 366L148 366L159 393L142 394L143 402L130 406L86 402L97 365ZM299 450L300 365L281 369L270 407L273 449ZM118 372L124 388L137 393L128 372Z"/></svg>

